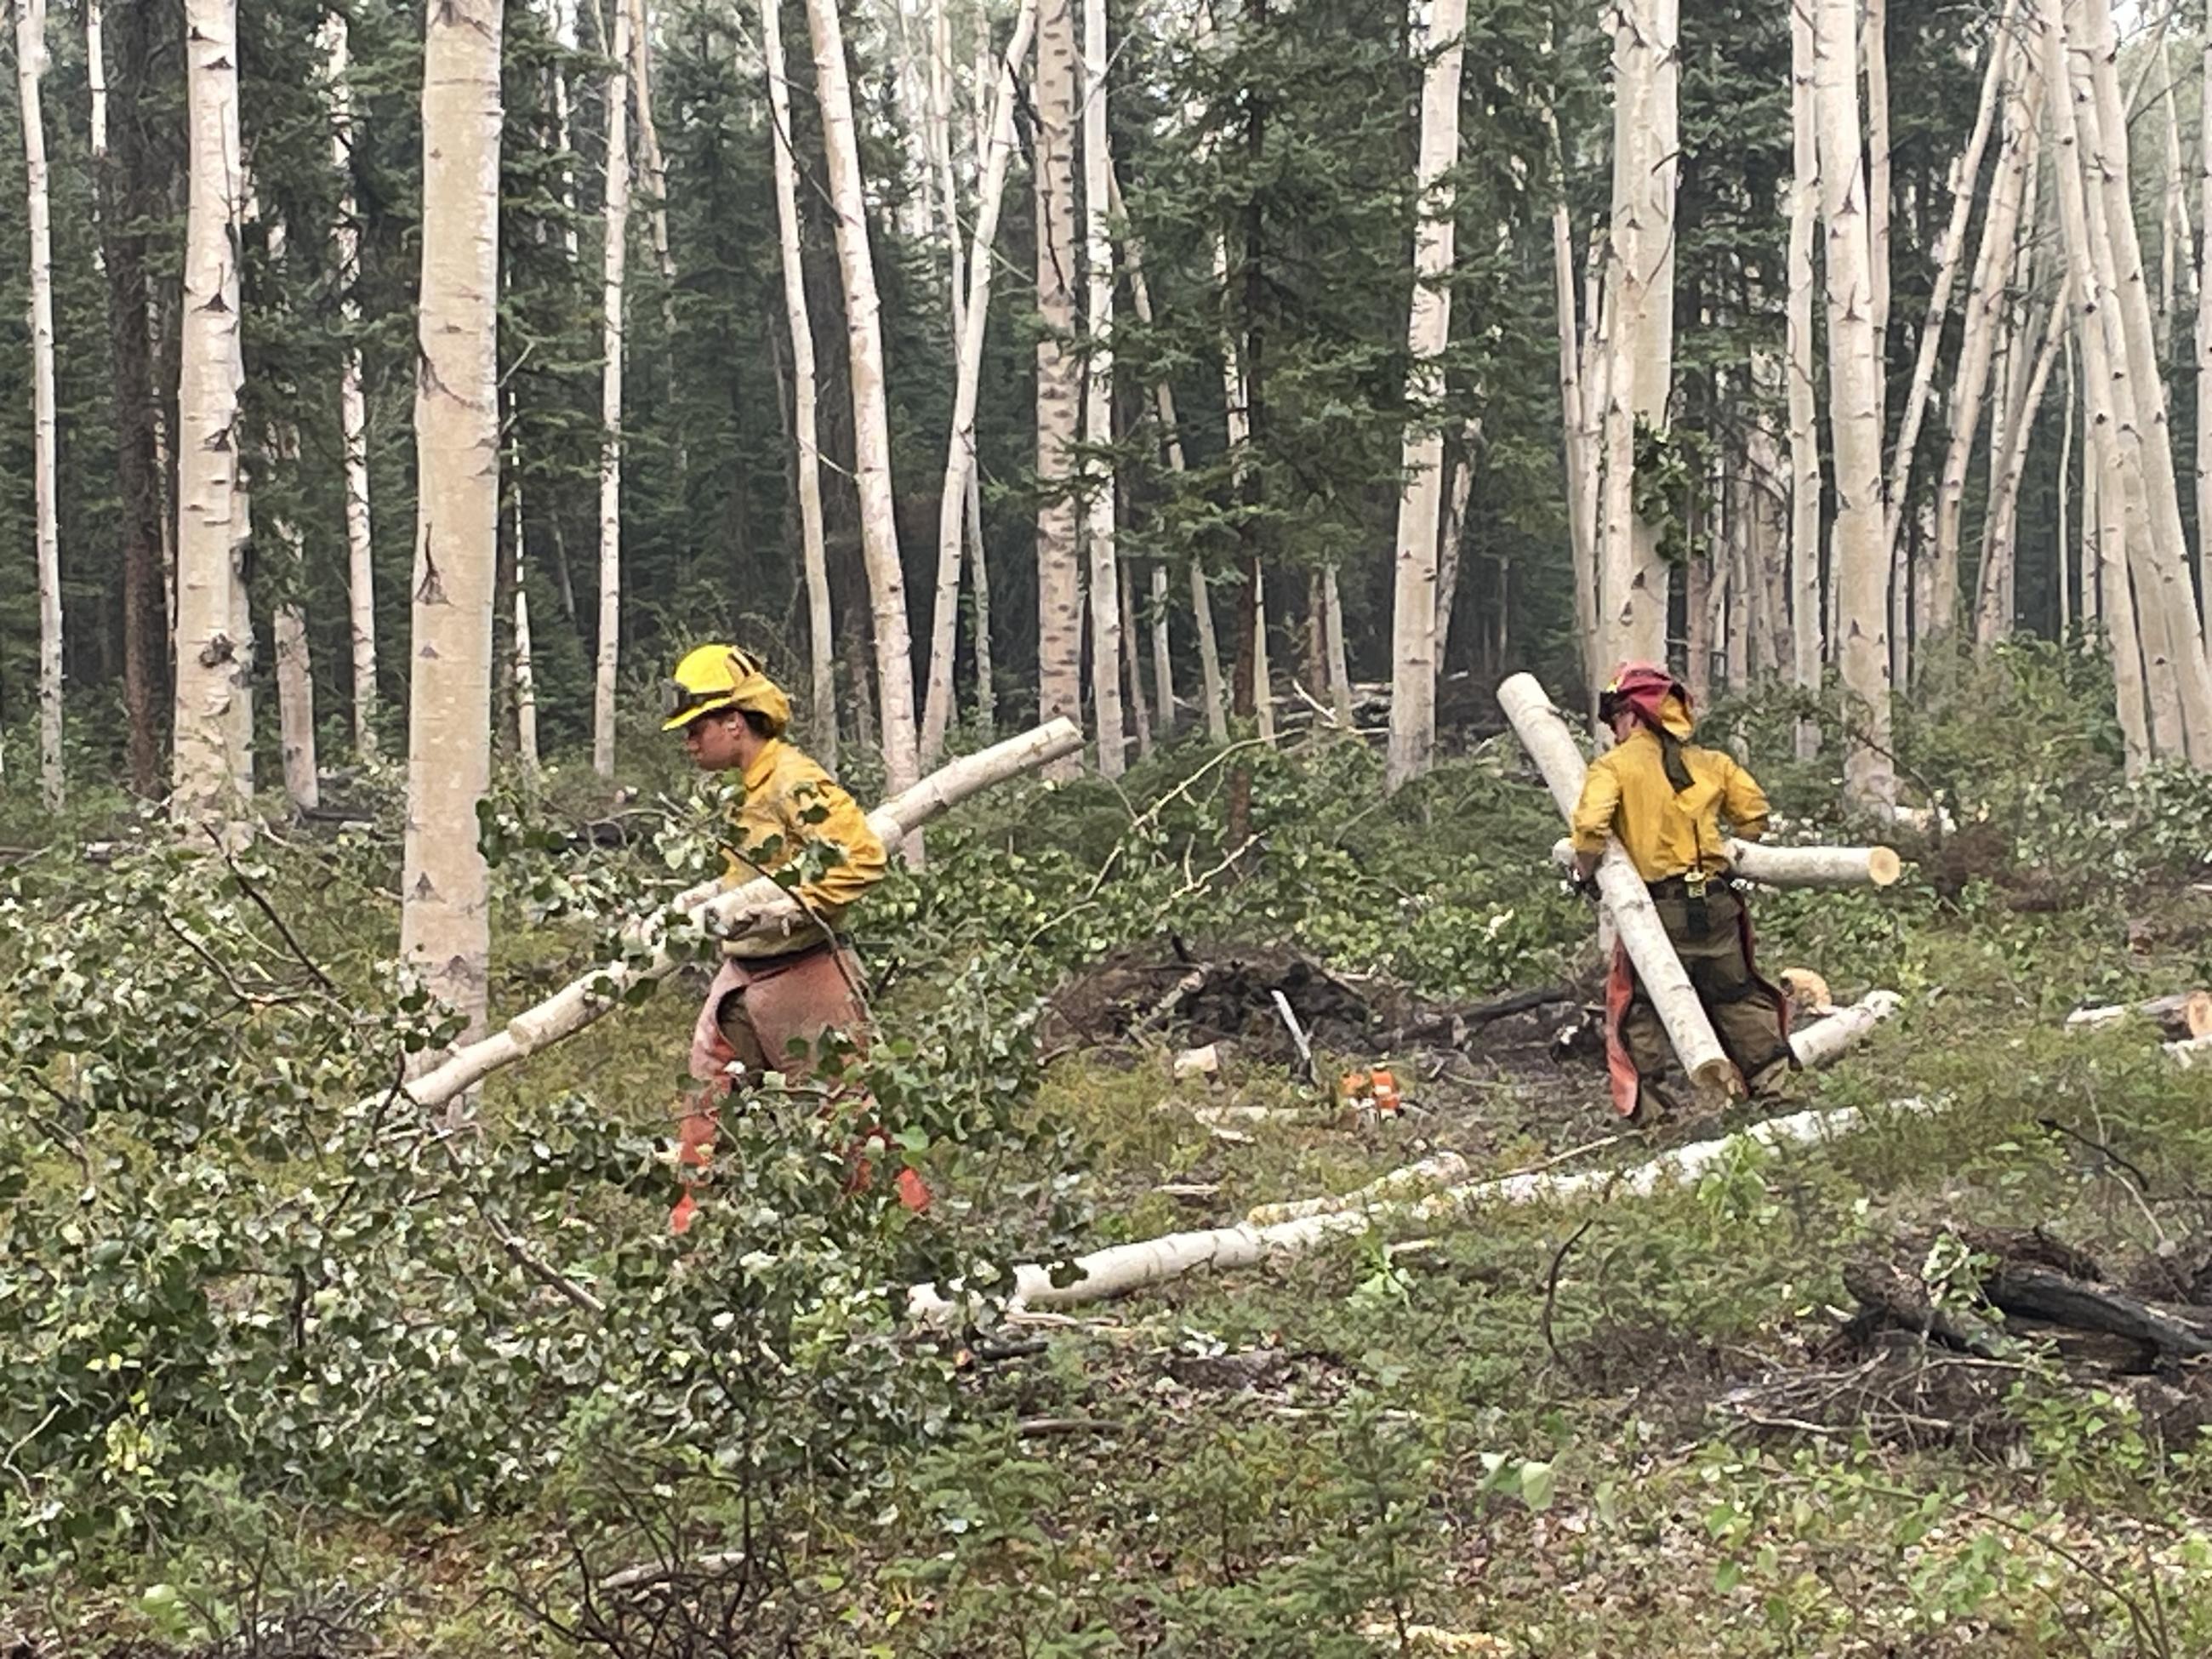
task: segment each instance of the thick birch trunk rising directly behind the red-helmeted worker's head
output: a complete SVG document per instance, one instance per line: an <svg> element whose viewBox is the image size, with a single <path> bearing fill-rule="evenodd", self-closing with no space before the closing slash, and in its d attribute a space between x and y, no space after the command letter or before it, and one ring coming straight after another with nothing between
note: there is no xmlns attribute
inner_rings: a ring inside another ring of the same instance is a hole
<svg viewBox="0 0 2212 1659"><path fill-rule="evenodd" d="M1679 11L1679 0L1615 0L1613 7L1613 228L1606 259L1613 363L1599 555L1608 661L1666 661L1668 568L1659 557L1659 526L1635 511L1635 456L1639 418L1666 431L1674 383Z"/></svg>

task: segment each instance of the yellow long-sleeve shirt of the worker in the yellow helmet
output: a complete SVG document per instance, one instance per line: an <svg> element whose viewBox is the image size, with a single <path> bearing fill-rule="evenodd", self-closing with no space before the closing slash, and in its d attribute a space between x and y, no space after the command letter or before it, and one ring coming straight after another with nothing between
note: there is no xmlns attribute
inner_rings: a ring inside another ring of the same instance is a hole
<svg viewBox="0 0 2212 1659"><path fill-rule="evenodd" d="M745 768L745 799L730 814L734 845L723 849L723 885L801 867L799 902L823 925L836 927L845 909L883 880L883 841L838 783L807 754L781 739ZM818 852L816 852L818 847ZM805 929L812 933L814 929ZM779 956L807 938L743 938L723 945L730 956Z"/></svg>

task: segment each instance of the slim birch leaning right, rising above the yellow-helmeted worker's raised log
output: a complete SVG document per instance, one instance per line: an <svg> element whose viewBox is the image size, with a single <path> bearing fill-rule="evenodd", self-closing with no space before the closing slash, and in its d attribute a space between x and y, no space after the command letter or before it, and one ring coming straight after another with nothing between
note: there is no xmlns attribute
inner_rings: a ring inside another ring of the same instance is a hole
<svg viewBox="0 0 2212 1659"><path fill-rule="evenodd" d="M765 0L765 4L774 4L774 0ZM984 148L982 186L975 192L975 239L967 261L960 356L953 365L953 431L945 447L945 487L938 493L938 597L929 633L929 695L922 699L920 759L925 765L945 752L945 730L951 723L953 650L960 637L962 507L975 484L975 396L982 385L982 343L991 316L991 274L998 265L998 212L1006 199L1006 166L1015 146L1013 106L1020 91L1015 75L1029 58L1035 24L1037 0L1022 0L1013 20L1013 40L998 66L991 137Z"/></svg>

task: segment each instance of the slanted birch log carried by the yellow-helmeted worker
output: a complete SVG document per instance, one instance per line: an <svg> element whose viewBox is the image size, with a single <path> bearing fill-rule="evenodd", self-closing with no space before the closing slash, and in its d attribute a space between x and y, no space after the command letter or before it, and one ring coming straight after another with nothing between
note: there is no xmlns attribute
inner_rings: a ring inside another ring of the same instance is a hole
<svg viewBox="0 0 2212 1659"><path fill-rule="evenodd" d="M951 765L931 772L914 787L885 801L867 814L867 823L883 838L885 847L898 847L925 823L949 812L967 796L1020 776L1046 761L1055 761L1062 754L1075 754L1082 745L1084 734L1073 721L1048 721L1022 737L1009 737L1004 743L993 743L975 754L962 754ZM741 887L701 883L679 894L670 911L675 920L695 920L714 938L757 938L812 927L799 900L765 876L748 880ZM622 962L602 962L538 1006L518 1013L507 1022L504 1031L453 1051L436 1071L427 1071L407 1084L407 1095L425 1108L442 1106L456 1095L476 1088L493 1071L526 1060L546 1044L582 1031L602 1013L608 1013L630 987L672 973L679 958L668 949L670 911L633 922L626 929L624 940L635 947L635 956Z"/></svg>

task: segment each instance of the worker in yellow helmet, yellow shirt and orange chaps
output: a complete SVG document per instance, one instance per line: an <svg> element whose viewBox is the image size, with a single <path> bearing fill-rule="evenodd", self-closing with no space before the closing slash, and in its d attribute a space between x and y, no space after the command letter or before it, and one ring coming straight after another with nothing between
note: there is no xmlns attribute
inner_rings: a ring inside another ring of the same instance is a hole
<svg viewBox="0 0 2212 1659"><path fill-rule="evenodd" d="M783 741L792 699L750 653L721 644L688 653L664 686L661 712L661 730L684 732L692 765L743 779L743 799L730 810L723 883L772 876L805 916L790 936L723 940L721 971L692 1029L690 1075L701 1088L677 1135L684 1197L668 1225L686 1232L697 1212L692 1188L714 1157L721 1102L770 1071L805 1079L832 1031L865 1042L860 964L838 925L883 880L885 852L854 799ZM856 1157L854 1186L865 1183L867 1164ZM898 1172L898 1197L909 1210L929 1206L929 1190L909 1168Z"/></svg>

